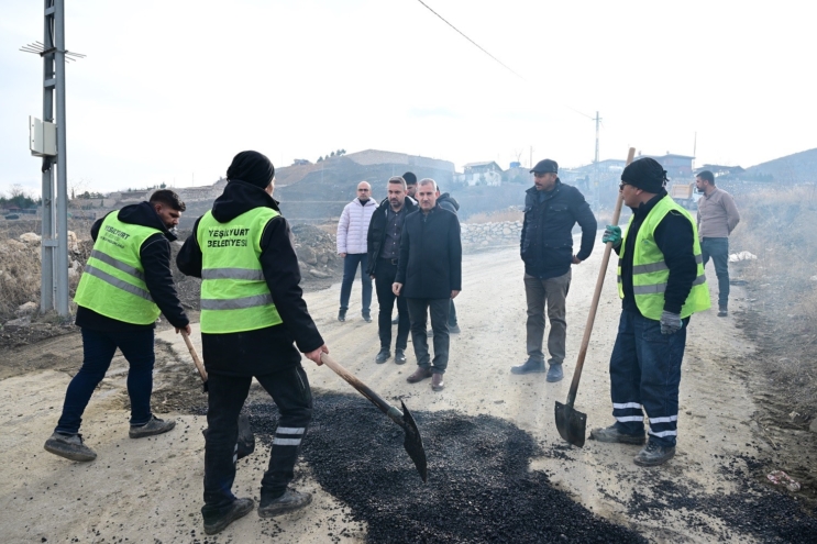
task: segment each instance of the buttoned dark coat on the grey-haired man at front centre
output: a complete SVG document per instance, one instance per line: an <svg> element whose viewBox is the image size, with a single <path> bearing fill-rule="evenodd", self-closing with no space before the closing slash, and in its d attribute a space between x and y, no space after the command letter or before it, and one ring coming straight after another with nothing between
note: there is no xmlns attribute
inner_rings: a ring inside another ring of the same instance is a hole
<svg viewBox="0 0 817 544"><path fill-rule="evenodd" d="M448 299L462 290L462 243L456 214L435 206L406 218L395 281L401 297Z"/></svg>

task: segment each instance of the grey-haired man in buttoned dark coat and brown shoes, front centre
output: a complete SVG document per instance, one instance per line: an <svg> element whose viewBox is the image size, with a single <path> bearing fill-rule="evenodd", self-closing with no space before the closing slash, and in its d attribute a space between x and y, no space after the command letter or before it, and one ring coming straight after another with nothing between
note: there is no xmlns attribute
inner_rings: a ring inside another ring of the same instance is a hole
<svg viewBox="0 0 817 544"><path fill-rule="evenodd" d="M406 218L400 240L394 292L405 297L411 319L417 370L407 378L416 384L431 379L431 388L441 391L449 365L450 300L462 290L462 243L456 214L437 203L437 182L422 179L417 186L420 211ZM429 356L426 321L431 314L434 332L434 360Z"/></svg>

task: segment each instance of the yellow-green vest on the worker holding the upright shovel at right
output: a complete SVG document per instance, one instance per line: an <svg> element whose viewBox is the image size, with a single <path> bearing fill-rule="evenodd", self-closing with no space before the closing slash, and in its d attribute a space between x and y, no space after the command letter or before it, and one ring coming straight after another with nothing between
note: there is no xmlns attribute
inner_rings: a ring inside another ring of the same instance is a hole
<svg viewBox="0 0 817 544"><path fill-rule="evenodd" d="M660 320L664 311L664 291L666 281L670 279L670 269L664 262L664 254L661 253L655 244L655 227L661 220L671 211L682 213L692 225L695 262L697 263L697 277L693 281L692 290L681 308L681 317L688 318L695 312L706 310L711 306L709 301L709 288L706 285L706 275L704 274L704 259L700 255L700 244L698 243L698 230L695 226L689 213L681 208L669 196L662 198L650 210L636 236L634 254L632 256L632 293L636 297L636 306L644 318ZM630 218L630 224L632 224ZM628 224L628 230L630 227ZM627 234L623 236L627 238ZM625 298L625 290L621 284L621 262L625 257L626 244L621 244L621 253L618 260L618 296Z"/></svg>

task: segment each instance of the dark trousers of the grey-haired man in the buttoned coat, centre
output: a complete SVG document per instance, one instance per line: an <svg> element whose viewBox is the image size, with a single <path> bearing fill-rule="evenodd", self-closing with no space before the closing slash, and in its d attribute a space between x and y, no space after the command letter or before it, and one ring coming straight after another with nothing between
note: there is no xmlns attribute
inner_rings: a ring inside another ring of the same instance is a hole
<svg viewBox="0 0 817 544"><path fill-rule="evenodd" d="M431 368L432 373L445 374L449 367L449 312L451 299L408 299L411 317L411 343L415 345L417 366ZM434 331L434 360L429 355L426 320L431 314Z"/></svg>

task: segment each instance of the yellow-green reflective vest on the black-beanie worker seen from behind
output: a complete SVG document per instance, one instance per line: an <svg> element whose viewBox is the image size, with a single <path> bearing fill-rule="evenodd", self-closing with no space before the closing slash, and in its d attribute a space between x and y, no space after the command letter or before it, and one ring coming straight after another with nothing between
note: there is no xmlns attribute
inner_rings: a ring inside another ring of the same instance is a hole
<svg viewBox="0 0 817 544"><path fill-rule="evenodd" d="M201 332L225 334L283 323L261 268L261 236L279 215L254 208L228 223L207 212L196 240L201 248Z"/></svg>

